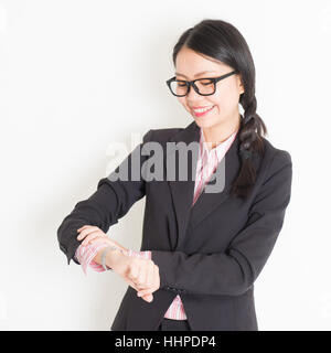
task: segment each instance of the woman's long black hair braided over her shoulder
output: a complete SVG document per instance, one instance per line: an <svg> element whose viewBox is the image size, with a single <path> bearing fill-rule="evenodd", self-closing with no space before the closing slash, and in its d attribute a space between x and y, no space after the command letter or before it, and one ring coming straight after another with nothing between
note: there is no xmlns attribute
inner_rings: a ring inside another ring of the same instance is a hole
<svg viewBox="0 0 331 353"><path fill-rule="evenodd" d="M188 29L173 47L172 60L182 47L213 57L237 71L242 77L244 93L239 104L245 114L241 115L238 130L241 170L231 188L231 194L238 197L248 196L255 180L256 170L252 159L264 152L263 136L267 128L256 114L255 66L249 47L239 31L222 20L206 19Z"/></svg>

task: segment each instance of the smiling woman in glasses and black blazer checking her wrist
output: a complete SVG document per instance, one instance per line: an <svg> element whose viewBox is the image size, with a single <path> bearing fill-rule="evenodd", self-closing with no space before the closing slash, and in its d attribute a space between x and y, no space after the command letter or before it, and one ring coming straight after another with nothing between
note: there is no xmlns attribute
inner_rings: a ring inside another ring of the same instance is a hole
<svg viewBox="0 0 331 353"><path fill-rule="evenodd" d="M175 76L167 85L193 121L149 130L64 218L60 247L68 264L113 269L129 285L111 330L258 330L254 282L282 227L291 157L263 137L267 129L256 113L254 62L232 24L203 20L186 30L173 63ZM140 168L146 176L151 157L141 154L138 167L131 162L151 142L161 147L154 161L163 159L163 178L116 180L122 165L128 175ZM188 179L177 172L170 179L166 160L174 156L174 165L183 169L180 154L190 143L197 153L186 153ZM106 232L143 196L142 243L134 252Z"/></svg>

